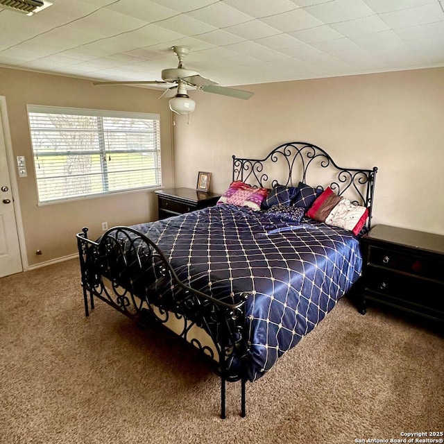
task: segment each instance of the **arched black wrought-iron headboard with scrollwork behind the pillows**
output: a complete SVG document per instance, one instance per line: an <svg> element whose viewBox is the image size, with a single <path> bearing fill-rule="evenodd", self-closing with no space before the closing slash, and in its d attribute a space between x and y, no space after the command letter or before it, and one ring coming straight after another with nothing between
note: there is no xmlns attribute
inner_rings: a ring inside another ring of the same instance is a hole
<svg viewBox="0 0 444 444"><path fill-rule="evenodd" d="M341 168L319 146L306 142L288 142L274 148L264 159L242 159L233 155L233 180L255 187L280 185L332 190L352 203L368 207L368 228L372 218L377 168Z"/></svg>

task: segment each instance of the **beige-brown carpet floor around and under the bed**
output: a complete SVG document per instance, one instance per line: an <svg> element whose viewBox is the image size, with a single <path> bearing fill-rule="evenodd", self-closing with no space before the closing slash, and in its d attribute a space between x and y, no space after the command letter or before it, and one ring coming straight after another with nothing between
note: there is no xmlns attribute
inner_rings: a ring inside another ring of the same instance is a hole
<svg viewBox="0 0 444 444"><path fill-rule="evenodd" d="M438 295L442 297L442 295ZM323 443L444 430L444 336L343 298L247 384L101 301L83 313L75 259L0 279L0 443ZM361 441L362 442L362 441Z"/></svg>

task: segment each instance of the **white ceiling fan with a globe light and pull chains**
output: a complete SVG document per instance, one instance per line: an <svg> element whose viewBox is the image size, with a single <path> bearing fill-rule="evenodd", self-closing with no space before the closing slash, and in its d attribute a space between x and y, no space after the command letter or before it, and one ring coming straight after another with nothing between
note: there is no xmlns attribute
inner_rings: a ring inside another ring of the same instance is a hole
<svg viewBox="0 0 444 444"><path fill-rule="evenodd" d="M173 83L174 85L169 87L160 98L172 98L169 101L169 108L177 114L189 114L194 111L194 108L196 108L194 100L190 99L187 95L187 88L198 89L198 91L203 92L212 92L214 94L222 94L224 96L244 100L248 100L253 96L253 92L220 86L217 82L200 76L197 71L186 69L183 65L183 60L189 53L189 49L182 46L173 46L171 49L178 57L179 65L177 68L162 69L162 80L94 82L94 85L162 85Z"/></svg>

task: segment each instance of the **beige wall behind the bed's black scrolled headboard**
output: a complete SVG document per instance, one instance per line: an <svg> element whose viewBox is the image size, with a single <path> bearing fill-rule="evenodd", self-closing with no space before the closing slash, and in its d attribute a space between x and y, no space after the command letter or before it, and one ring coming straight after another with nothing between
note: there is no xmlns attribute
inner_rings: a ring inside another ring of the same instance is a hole
<svg viewBox="0 0 444 444"><path fill-rule="evenodd" d="M311 142L341 167L378 167L373 223L444 234L444 68L244 87L249 101L191 93L196 111L175 118L176 187L212 172L232 177L231 155L263 157Z"/></svg>

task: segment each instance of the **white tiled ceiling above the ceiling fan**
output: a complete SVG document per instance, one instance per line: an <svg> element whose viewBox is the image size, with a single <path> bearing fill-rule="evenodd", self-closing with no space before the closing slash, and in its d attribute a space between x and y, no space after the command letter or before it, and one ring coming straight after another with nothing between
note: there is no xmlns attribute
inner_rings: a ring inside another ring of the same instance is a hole
<svg viewBox="0 0 444 444"><path fill-rule="evenodd" d="M0 65L95 80L185 66L221 85L444 66L444 0L51 0L0 9Z"/></svg>

